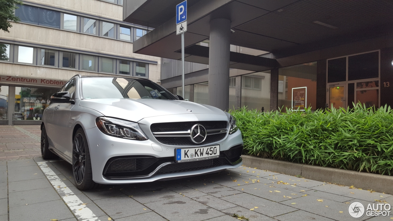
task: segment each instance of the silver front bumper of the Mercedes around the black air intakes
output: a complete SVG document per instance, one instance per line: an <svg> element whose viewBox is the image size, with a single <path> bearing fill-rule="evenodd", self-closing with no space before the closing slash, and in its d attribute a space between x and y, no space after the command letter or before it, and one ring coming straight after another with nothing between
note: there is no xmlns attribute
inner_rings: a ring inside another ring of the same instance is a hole
<svg viewBox="0 0 393 221"><path fill-rule="evenodd" d="M227 151L231 147L239 147L243 145L240 131L237 131L234 134L227 135L226 138L220 140L219 142L202 145L211 146L219 144L221 152L220 158L215 159L226 160L228 162L226 165L215 164L219 166L205 166L201 167L202 169L184 172L177 170L178 172L176 171L174 173L167 174L160 172L160 169L163 169L165 168L165 166L168 165L173 166L175 149L191 148L193 146L164 145L154 140L154 138L145 141L116 138L103 134L101 131L99 131L97 127L88 129L85 131L85 133L90 150L93 180L94 182L100 184L129 184L152 182L155 180L177 179L206 173L214 173L215 171L222 171L229 168L237 168L242 165L241 158L238 158L237 160L230 160L224 154L224 151ZM160 145L161 149L157 148L157 145ZM111 159L127 157L152 157L161 161L149 174L139 174L138 176L108 176L108 174L105 174L108 169L108 163ZM201 162L202 161L204 160L201 160ZM186 166L185 163L176 164Z"/></svg>

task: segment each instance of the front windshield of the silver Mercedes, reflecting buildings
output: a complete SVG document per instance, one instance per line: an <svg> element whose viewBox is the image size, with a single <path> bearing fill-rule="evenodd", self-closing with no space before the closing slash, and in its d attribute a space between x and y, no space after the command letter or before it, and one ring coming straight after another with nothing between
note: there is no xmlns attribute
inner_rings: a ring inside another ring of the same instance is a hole
<svg viewBox="0 0 393 221"><path fill-rule="evenodd" d="M164 88L149 80L125 77L83 77L82 95L84 99L176 99Z"/></svg>

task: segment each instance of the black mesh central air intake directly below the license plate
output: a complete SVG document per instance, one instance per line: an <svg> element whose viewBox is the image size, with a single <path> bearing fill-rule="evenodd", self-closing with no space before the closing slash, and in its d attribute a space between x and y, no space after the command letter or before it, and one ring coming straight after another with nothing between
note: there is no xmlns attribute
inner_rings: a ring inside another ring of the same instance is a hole
<svg viewBox="0 0 393 221"><path fill-rule="evenodd" d="M199 160L193 162L174 163L163 166L159 169L156 175L168 173L181 173L188 171L196 171L200 169L208 169L218 166L230 165L225 158L214 158L209 160Z"/></svg>

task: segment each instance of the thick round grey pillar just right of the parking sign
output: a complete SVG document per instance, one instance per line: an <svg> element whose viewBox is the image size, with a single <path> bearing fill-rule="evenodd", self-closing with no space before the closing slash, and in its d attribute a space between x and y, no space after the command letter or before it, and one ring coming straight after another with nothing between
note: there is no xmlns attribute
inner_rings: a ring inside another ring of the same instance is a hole
<svg viewBox="0 0 393 221"><path fill-rule="evenodd" d="M210 21L209 105L228 111L231 21Z"/></svg>

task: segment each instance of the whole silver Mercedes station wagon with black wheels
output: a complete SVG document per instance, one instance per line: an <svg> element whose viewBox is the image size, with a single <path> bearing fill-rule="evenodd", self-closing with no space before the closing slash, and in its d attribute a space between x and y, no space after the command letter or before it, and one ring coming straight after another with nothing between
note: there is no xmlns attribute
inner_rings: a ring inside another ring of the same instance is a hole
<svg viewBox="0 0 393 221"><path fill-rule="evenodd" d="M41 153L72 164L80 190L214 173L242 165L233 116L142 78L74 76L51 96Z"/></svg>

